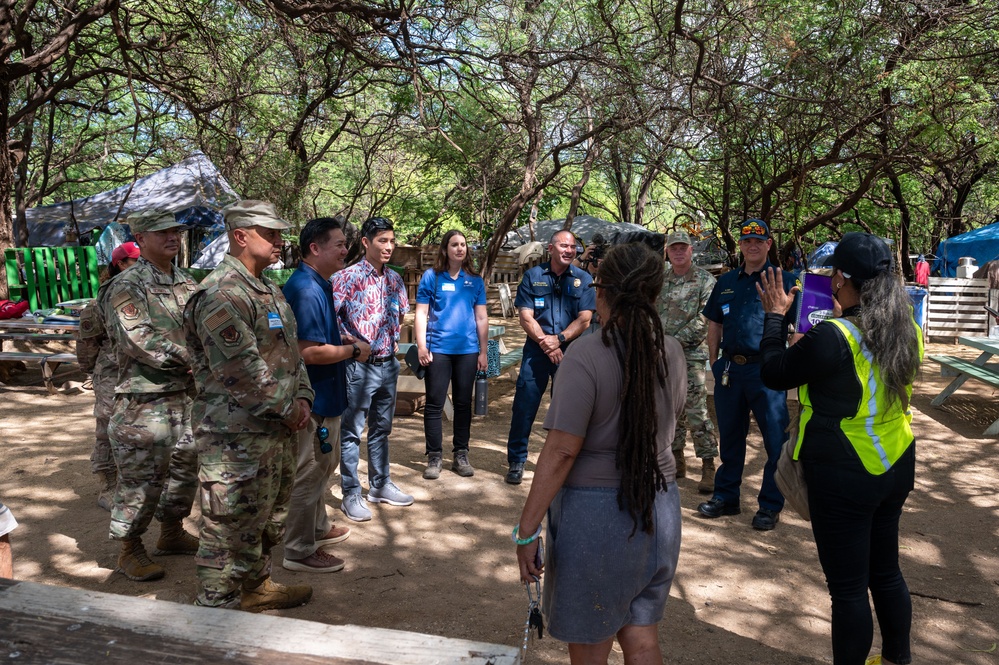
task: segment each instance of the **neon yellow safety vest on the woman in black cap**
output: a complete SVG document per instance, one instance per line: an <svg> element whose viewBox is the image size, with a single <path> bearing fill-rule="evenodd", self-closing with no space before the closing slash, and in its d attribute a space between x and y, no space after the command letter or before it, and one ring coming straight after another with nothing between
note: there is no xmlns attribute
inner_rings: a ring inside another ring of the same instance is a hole
<svg viewBox="0 0 999 665"><path fill-rule="evenodd" d="M840 429L857 451L857 456L863 462L867 472L880 476L890 469L912 443L912 411L902 410L898 400L893 400L888 406L888 395L880 381L881 371L874 364L874 357L864 345L863 333L847 319L828 319L846 338L853 352L853 366L857 379L863 389L860 398L860 409L857 415L843 418ZM912 325L916 325L915 320ZM916 326L918 330L919 327ZM919 357L923 356L923 335L917 335L919 340ZM906 389L912 397L912 385ZM808 386L798 389L798 401L801 404L801 421L798 427L798 441L794 447L794 459L798 459L801 442L805 436L805 426L811 420L813 410L808 397Z"/></svg>

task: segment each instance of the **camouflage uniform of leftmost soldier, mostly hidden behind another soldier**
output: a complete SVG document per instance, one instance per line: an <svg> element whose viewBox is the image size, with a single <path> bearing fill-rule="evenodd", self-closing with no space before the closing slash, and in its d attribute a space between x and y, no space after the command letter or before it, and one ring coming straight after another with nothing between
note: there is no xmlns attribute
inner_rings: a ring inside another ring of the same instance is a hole
<svg viewBox="0 0 999 665"><path fill-rule="evenodd" d="M118 473L111 455L108 438L108 420L114 404L114 384L118 376L118 361L111 349L111 339L104 329L100 301L106 297L108 285L104 282L97 291L97 298L80 314L80 337L76 341L76 358L80 367L90 373L94 384L94 452L90 455L92 473Z"/></svg>

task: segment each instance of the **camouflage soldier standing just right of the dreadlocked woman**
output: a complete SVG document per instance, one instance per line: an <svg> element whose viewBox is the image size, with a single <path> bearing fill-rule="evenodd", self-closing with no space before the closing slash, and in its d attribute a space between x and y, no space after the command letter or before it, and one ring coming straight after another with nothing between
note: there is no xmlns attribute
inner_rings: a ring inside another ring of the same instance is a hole
<svg viewBox="0 0 999 665"><path fill-rule="evenodd" d="M701 459L701 480L697 484L697 490L702 494L710 494L715 486L718 438L715 436L714 423L708 417L708 392L704 387L708 325L701 310L711 295L715 278L693 264L690 236L683 231L671 233L666 238L666 256L670 267L666 270L666 279L657 302L659 318L663 322L663 332L672 335L683 345L683 355L687 359L685 417L676 424L672 445L676 459L676 477L684 478L687 474L683 448L689 428L694 439L694 454Z"/></svg>

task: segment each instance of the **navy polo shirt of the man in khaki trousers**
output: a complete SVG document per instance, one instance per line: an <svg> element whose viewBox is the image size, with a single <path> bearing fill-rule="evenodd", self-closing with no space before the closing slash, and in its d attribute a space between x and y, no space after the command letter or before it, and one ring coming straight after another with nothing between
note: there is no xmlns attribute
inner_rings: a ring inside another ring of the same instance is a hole
<svg viewBox="0 0 999 665"><path fill-rule="evenodd" d="M333 290L323 276L306 263L288 278L282 289L298 323L298 338L306 342L340 346L340 329L333 307ZM331 365L306 365L316 401L312 412L324 418L336 418L347 408L346 361Z"/></svg>

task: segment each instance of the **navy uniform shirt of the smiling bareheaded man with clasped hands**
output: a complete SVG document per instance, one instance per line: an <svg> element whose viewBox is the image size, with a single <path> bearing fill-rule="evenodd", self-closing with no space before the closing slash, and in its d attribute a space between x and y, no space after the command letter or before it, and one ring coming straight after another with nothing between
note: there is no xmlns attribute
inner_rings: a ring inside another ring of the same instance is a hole
<svg viewBox="0 0 999 665"><path fill-rule="evenodd" d="M592 281L588 272L576 266L570 265L559 277L552 272L551 263L542 263L524 273L514 306L518 311L524 307L533 309L534 320L542 332L557 335L568 328L580 312L597 309L597 296L590 288Z"/></svg>

